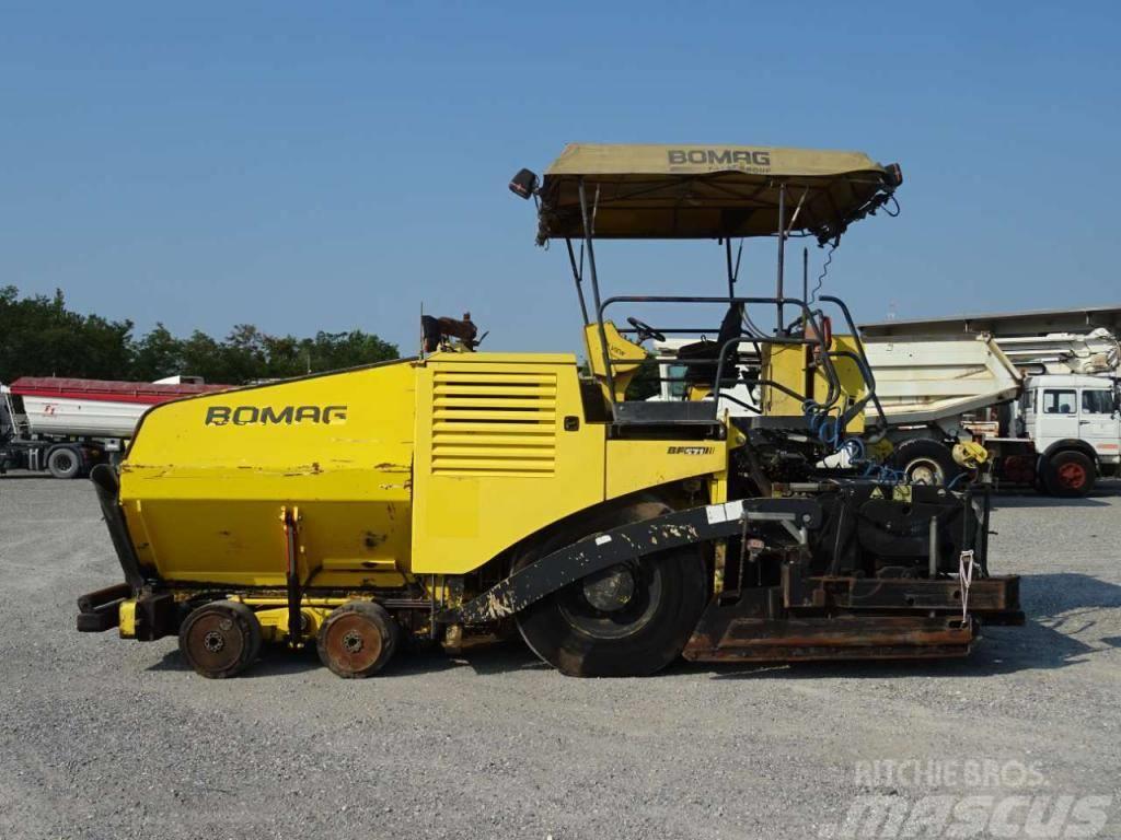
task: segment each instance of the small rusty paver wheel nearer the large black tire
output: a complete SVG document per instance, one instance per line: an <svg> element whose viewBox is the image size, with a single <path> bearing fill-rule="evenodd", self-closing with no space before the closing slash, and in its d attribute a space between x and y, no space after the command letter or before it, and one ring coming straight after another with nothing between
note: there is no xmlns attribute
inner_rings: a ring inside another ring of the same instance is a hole
<svg viewBox="0 0 1121 840"><path fill-rule="evenodd" d="M397 650L400 627L380 604L352 600L327 616L316 648L339 676L361 679L378 673Z"/></svg>

